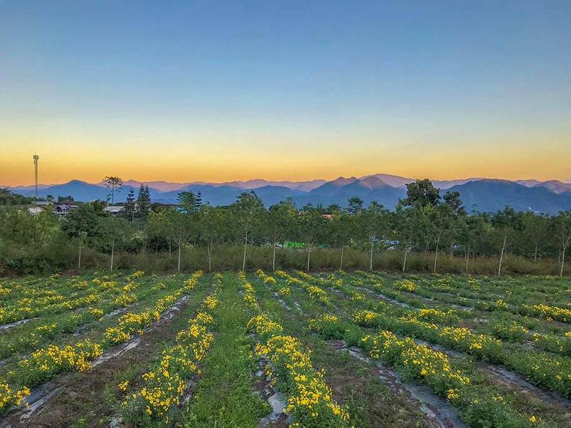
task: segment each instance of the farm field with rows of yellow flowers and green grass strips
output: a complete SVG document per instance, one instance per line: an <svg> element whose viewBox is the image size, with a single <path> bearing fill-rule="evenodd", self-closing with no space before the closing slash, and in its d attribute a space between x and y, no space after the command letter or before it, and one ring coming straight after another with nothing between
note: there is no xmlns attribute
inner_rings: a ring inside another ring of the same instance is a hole
<svg viewBox="0 0 571 428"><path fill-rule="evenodd" d="M0 279L0 427L571 427L571 281Z"/></svg>

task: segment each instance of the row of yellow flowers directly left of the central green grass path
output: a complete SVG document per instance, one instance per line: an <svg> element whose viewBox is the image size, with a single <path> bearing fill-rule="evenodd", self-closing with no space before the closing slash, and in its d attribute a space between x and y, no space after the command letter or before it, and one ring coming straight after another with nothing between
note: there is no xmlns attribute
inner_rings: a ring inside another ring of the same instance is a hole
<svg viewBox="0 0 571 428"><path fill-rule="evenodd" d="M143 388L128 395L121 404L126 422L137 427L170 422L170 412L179 404L188 379L201 374L198 364L213 342L214 336L208 330L214 324L217 307L216 293L206 297L188 328L176 335L175 344L164 350L156 365L143 374ZM126 389L128 384L123 382L119 386Z"/></svg>

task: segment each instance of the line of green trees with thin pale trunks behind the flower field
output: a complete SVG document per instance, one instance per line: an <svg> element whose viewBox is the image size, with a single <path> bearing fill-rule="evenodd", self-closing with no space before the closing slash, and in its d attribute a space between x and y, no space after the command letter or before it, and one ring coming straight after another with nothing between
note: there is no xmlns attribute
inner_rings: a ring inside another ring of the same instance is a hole
<svg viewBox="0 0 571 428"><path fill-rule="evenodd" d="M335 250L336 267L341 270L348 249L366 252L370 270L375 268L375 254L397 250L402 255L403 272L411 253L424 253L433 258L433 272L438 272L443 254L462 258L467 273L479 257L496 257L500 275L506 255L510 254L530 263L556 259L557 273L563 275L571 244L570 211L542 215L505 207L496 213L467 213L458 192L441 197L430 180L408 184L407 196L395 210L375 202L365 206L356 197L350 198L344 207L296 207L292 200L283 200L266 208L255 191L242 193L231 205L219 207L203 202L200 193L181 192L178 203L169 206L152 203L148 187L141 185L138 194L129 190L123 210L116 216L104 208L108 202L113 203L122 181L106 177L105 182L110 200L79 203L62 219L49 210L39 215L14 208L0 210L1 263L10 265L8 259L14 253L26 253L26 249L32 257L41 248L54 248L57 242L65 242L76 245L79 266L84 248L108 255L111 269L117 251L153 250L174 253L174 267L181 270L183 250L203 248L211 270L217 246L241 245L243 270L248 267L248 249L256 246L268 248L273 269L276 252L291 247L290 251L305 252L306 270L312 268L313 252L328 248ZM10 193L4 191L1 195L6 199Z"/></svg>

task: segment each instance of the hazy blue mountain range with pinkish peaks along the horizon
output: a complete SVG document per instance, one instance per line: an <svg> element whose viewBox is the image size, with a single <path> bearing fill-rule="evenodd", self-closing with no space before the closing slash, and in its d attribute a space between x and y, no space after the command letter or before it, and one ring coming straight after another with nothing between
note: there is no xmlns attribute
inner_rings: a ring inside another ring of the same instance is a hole
<svg viewBox="0 0 571 428"><path fill-rule="evenodd" d="M373 200L394 208L400 198L406 194L406 185L412 178L398 175L373 174L360 178L340 177L336 180L308 181L269 181L247 180L226 183L168 183L166 181L150 181L145 184L151 192L153 202L176 203L181 191L201 192L204 201L212 205L228 205L236 197L248 190L253 190L266 205L273 205L285 198L292 198L298 206L307 203L313 205L345 205L348 198L358 196L365 204ZM460 180L433 180L441 193L448 190L458 191L465 208L469 211L490 212L501 210L510 205L519 211L532 210L536 213L557 213L560 210L571 210L571 183L559 180L497 180L490 178L465 178ZM115 202L123 202L130 188L138 190L140 182L126 180L121 192L115 194ZM34 186L16 186L10 188L14 193L34 195ZM71 180L56 185L39 185L39 194L71 195L75 200L105 200L108 189L101 183L86 183Z"/></svg>

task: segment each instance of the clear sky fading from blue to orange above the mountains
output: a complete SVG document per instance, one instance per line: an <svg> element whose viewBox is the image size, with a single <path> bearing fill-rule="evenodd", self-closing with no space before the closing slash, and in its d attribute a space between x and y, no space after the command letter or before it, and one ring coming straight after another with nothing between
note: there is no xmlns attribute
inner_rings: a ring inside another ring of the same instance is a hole
<svg viewBox="0 0 571 428"><path fill-rule="evenodd" d="M0 183L571 179L571 1L0 0Z"/></svg>

